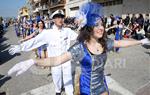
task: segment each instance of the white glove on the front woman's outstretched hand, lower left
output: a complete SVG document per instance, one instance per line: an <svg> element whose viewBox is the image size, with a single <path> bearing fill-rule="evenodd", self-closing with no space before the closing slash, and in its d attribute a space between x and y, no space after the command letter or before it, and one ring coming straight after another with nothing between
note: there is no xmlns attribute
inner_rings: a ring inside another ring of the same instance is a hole
<svg viewBox="0 0 150 95"><path fill-rule="evenodd" d="M17 63L8 71L8 76L11 76L15 72L16 72L16 76L18 76L26 72L32 65L34 65L33 59L29 59L29 60Z"/></svg>

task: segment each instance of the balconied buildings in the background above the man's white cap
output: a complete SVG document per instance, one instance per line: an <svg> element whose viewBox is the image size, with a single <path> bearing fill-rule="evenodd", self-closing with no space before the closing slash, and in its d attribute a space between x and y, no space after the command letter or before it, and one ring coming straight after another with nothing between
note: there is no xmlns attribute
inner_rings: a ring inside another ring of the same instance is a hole
<svg viewBox="0 0 150 95"><path fill-rule="evenodd" d="M54 11L61 9L65 12L66 0L29 0L32 14L51 15Z"/></svg>

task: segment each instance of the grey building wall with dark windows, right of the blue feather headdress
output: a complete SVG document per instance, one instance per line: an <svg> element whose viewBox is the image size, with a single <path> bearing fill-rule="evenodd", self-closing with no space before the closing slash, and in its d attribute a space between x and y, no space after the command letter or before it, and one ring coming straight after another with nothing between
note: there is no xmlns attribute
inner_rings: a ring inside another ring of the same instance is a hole
<svg viewBox="0 0 150 95"><path fill-rule="evenodd" d="M150 0L92 0L103 5L104 15L150 13Z"/></svg>

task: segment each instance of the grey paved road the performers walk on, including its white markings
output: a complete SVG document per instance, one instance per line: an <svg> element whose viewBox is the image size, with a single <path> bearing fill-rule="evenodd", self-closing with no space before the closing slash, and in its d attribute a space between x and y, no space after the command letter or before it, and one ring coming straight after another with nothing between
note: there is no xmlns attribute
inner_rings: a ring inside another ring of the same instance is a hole
<svg viewBox="0 0 150 95"><path fill-rule="evenodd" d="M0 75L16 63L32 57L32 52L15 56L8 54L10 44L17 44L13 28L0 39ZM0 92L7 95L55 95L49 70L32 67L19 77L13 76L0 84ZM122 48L119 53L110 52L105 68L110 95L150 95L150 45Z"/></svg>

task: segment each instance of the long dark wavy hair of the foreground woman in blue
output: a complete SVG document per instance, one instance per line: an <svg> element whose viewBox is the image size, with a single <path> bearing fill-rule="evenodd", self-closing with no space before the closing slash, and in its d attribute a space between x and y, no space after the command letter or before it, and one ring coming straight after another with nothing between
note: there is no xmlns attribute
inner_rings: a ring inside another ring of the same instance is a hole
<svg viewBox="0 0 150 95"><path fill-rule="evenodd" d="M84 26L83 28L81 28L77 40L79 42L85 42L85 41L89 42L91 39L91 35L93 35L93 33L94 33L93 29L94 29L94 26ZM103 37L98 39L98 42L104 48L103 52L106 52L106 50L107 50L107 42L106 41L107 41L107 33L104 30Z"/></svg>

